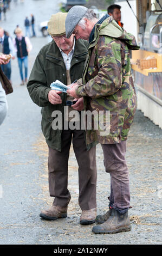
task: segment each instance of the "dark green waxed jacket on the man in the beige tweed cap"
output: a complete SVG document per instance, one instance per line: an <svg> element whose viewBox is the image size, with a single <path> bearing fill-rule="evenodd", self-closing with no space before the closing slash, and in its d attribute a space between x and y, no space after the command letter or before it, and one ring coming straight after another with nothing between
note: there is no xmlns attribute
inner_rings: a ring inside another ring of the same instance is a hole
<svg viewBox="0 0 162 256"><path fill-rule="evenodd" d="M75 50L70 66L70 78L74 80L82 77L85 60L87 57L88 42L85 40L75 41ZM29 77L27 89L31 99L38 106L42 107L42 132L50 148L61 151L62 130L53 130L51 123L53 111L61 111L66 105L66 93L61 94L62 104L53 105L48 101L48 93L51 90L50 84L56 80L67 84L66 66L61 52L54 40L42 47L38 53L33 69ZM89 149L87 147L87 149Z"/></svg>

